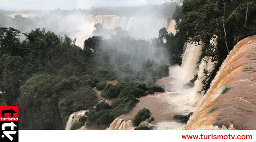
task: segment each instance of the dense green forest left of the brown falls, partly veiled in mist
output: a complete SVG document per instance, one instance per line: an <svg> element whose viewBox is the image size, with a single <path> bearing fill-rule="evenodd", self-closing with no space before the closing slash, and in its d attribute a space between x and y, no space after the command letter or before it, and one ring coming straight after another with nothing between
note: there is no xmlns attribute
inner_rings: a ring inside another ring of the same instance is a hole
<svg viewBox="0 0 256 142"><path fill-rule="evenodd" d="M103 97L118 98L90 111L88 127L105 129L130 112L146 90L163 91L154 86L156 79L169 75L165 48L122 33L108 40L94 36L82 49L68 36L45 29L24 33L21 42L20 31L0 28L1 106L20 106L21 129L64 129L73 112L102 105L96 87ZM114 79L119 83L107 85Z"/></svg>

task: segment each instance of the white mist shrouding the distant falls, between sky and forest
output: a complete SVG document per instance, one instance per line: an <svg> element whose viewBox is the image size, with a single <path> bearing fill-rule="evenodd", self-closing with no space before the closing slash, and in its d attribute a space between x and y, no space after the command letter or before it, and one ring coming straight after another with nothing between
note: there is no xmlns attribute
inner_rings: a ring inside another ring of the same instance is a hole
<svg viewBox="0 0 256 142"><path fill-rule="evenodd" d="M161 28L169 27L176 5L177 3L164 3L143 7L93 7L89 10L0 10L0 27L13 27L22 33L46 28L46 31L53 31L57 35L67 34L71 39L77 38L76 43L81 48L83 41L92 36L102 34L101 36L109 39L116 27L129 31L129 36L150 40L158 37ZM93 34L97 30L94 26L97 23L113 32ZM22 35L21 39L24 39Z"/></svg>

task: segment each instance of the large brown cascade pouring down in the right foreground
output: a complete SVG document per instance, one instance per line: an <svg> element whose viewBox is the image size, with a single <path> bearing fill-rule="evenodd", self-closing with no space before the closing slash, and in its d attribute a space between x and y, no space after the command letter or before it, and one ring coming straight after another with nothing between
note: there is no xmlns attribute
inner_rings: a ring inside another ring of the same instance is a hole
<svg viewBox="0 0 256 142"><path fill-rule="evenodd" d="M256 130L255 122L256 36L250 36L230 52L185 129Z"/></svg>

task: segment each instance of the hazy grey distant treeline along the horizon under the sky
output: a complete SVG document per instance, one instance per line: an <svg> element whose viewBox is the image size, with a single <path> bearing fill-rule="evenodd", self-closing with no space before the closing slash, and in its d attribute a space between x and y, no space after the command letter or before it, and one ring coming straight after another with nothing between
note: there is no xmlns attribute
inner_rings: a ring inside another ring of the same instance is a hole
<svg viewBox="0 0 256 142"><path fill-rule="evenodd" d="M35 15L42 16L46 13L58 14L62 16L72 15L72 14L86 14L86 15L118 15L125 17L132 16L158 16L164 18L171 18L175 7L179 5L176 2L166 2L162 5L146 5L143 7L92 7L91 9L73 9L73 10L61 10L56 9L52 11L43 10L24 10L24 11L4 11L0 10L4 15L10 14L28 14L32 13Z"/></svg>

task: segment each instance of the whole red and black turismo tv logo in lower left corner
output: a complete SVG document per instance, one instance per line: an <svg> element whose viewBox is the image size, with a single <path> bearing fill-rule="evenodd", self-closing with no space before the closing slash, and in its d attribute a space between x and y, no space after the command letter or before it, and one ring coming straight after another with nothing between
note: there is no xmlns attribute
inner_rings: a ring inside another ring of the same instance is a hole
<svg viewBox="0 0 256 142"><path fill-rule="evenodd" d="M0 141L18 142L19 107L0 106Z"/></svg>

